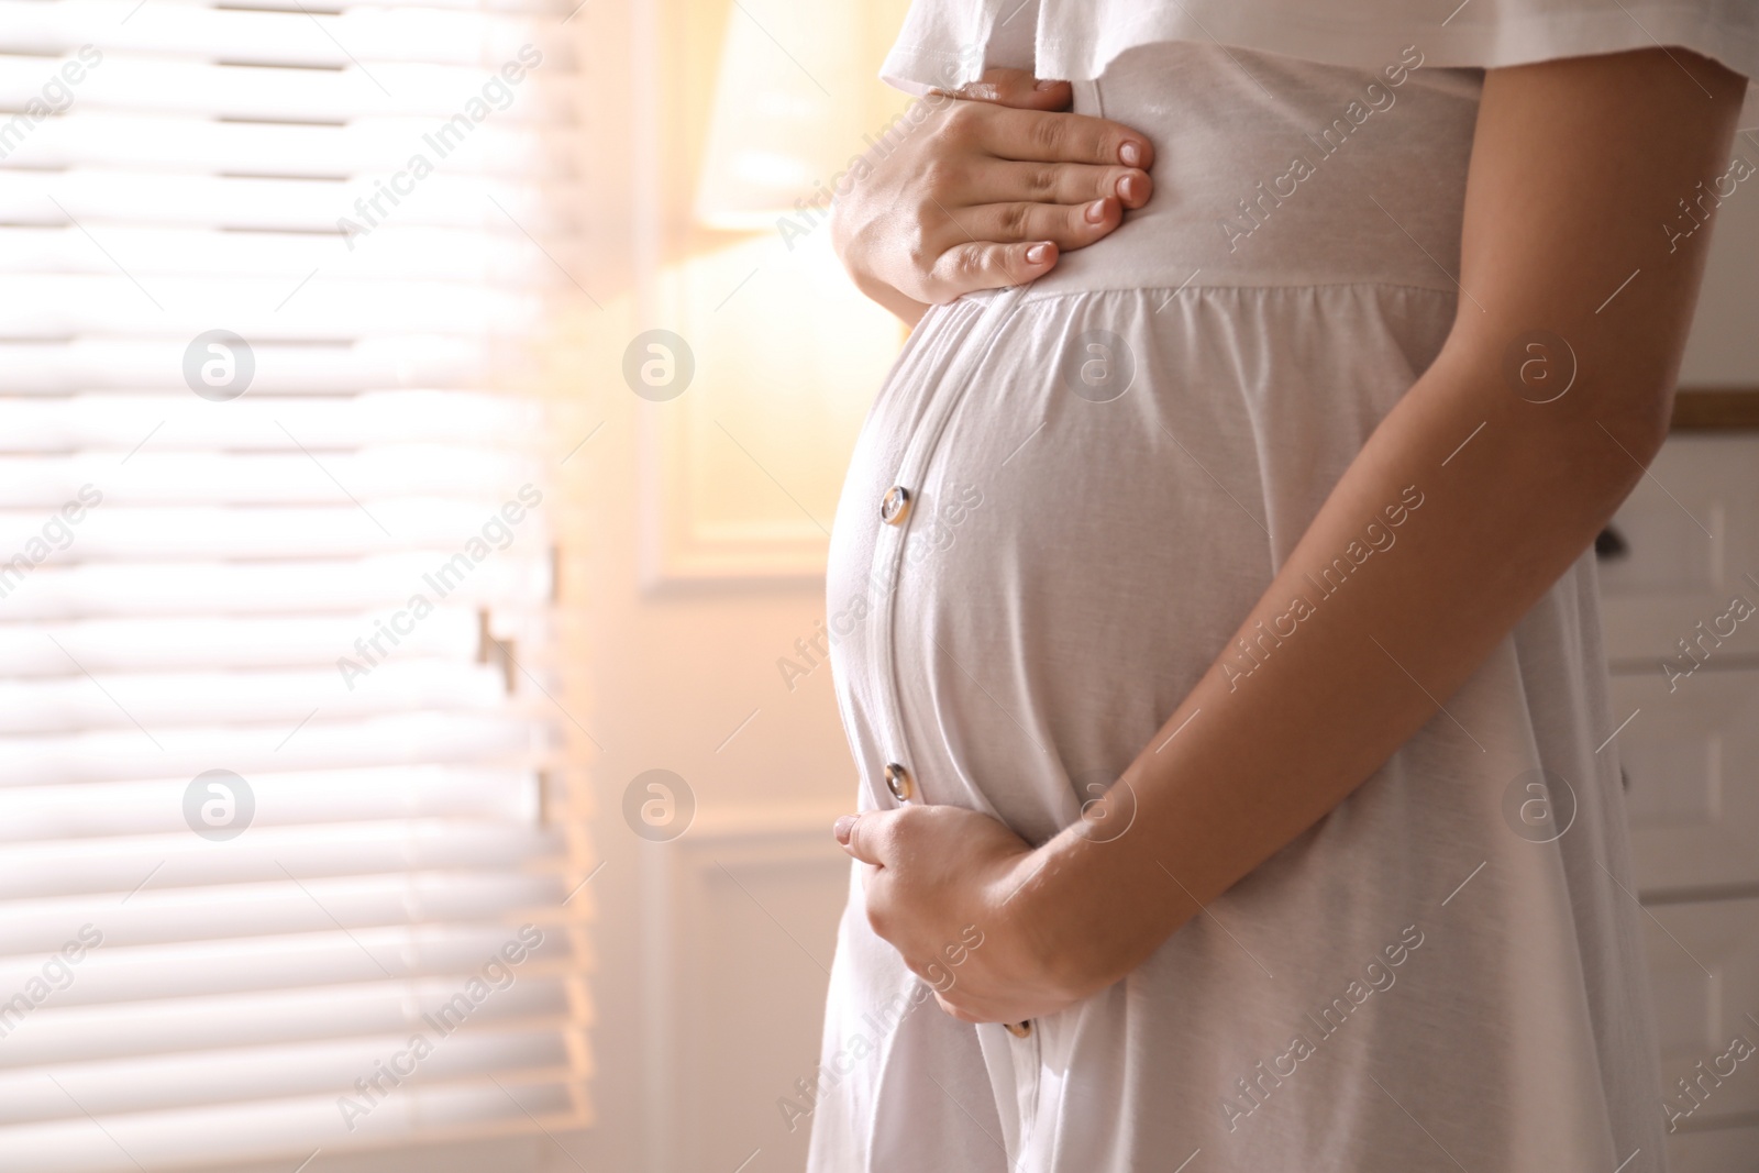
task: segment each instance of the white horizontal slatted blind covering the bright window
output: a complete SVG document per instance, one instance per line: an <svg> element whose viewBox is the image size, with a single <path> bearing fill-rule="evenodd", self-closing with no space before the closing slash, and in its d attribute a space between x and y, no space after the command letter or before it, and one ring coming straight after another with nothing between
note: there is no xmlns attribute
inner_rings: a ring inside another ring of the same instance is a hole
<svg viewBox="0 0 1759 1173"><path fill-rule="evenodd" d="M589 1118L566 16L0 0L0 1169Z"/></svg>

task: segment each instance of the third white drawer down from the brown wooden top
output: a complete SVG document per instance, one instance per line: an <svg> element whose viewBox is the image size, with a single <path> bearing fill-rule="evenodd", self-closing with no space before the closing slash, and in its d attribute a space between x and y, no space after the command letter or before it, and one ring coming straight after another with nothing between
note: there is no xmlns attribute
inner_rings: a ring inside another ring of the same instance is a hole
<svg viewBox="0 0 1759 1173"><path fill-rule="evenodd" d="M1675 1134L1752 1124L1759 1113L1759 899L1652 906L1643 922L1662 1115L1675 1120ZM1690 1094L1680 1080L1692 1085Z"/></svg>

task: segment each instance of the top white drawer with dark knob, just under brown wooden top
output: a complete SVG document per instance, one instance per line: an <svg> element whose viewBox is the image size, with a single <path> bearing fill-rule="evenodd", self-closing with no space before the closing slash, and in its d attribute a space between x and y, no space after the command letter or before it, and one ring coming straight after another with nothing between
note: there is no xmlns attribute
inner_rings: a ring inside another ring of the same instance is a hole
<svg viewBox="0 0 1759 1173"><path fill-rule="evenodd" d="M1624 552L1599 559L1599 579L1615 668L1660 672L1680 640L1706 663L1759 667L1759 614L1727 617L1736 594L1759 607L1759 434L1671 436L1611 529Z"/></svg>

